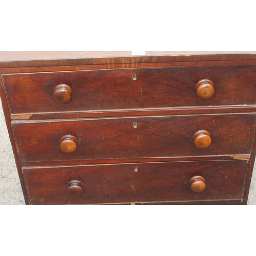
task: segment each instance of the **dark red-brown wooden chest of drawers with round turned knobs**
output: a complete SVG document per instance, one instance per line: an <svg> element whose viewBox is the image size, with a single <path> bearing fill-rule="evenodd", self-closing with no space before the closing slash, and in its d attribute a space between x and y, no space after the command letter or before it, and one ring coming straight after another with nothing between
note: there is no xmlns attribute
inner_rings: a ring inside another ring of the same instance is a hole
<svg viewBox="0 0 256 256"><path fill-rule="evenodd" d="M254 52L2 52L27 204L246 204Z"/></svg>

